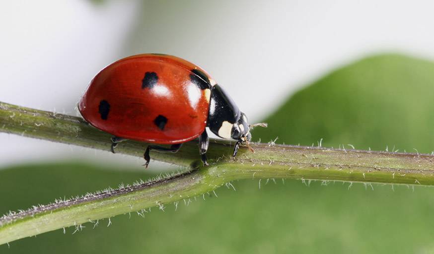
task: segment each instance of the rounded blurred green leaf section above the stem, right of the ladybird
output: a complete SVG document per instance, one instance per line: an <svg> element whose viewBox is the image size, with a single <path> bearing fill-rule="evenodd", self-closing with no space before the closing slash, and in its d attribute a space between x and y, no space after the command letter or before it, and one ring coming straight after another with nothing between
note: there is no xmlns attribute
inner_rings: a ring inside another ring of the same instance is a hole
<svg viewBox="0 0 434 254"><path fill-rule="evenodd" d="M294 94L254 137L262 141L431 153L434 64L380 55L350 64Z"/></svg>

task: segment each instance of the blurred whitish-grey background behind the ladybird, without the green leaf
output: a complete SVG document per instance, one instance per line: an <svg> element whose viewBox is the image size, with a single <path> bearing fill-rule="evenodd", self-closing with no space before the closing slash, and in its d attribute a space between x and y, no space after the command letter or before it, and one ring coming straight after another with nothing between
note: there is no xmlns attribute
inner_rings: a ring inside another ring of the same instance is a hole
<svg viewBox="0 0 434 254"><path fill-rule="evenodd" d="M431 0L3 1L0 101L75 115L105 65L165 53L204 67L260 121L302 85L368 54L432 59L433 10ZM0 167L104 158L142 169L140 158L4 133L0 140Z"/></svg>

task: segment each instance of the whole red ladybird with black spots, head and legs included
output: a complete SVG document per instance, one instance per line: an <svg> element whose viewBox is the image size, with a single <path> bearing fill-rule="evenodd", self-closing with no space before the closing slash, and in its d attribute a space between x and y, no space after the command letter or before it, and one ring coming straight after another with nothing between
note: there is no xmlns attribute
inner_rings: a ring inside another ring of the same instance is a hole
<svg viewBox="0 0 434 254"><path fill-rule="evenodd" d="M217 136L251 140L247 117L229 95L199 66L183 59L142 54L116 61L102 69L78 103L78 110L92 126L113 134L111 151L125 140L170 144L148 145L149 151L177 152L182 143L199 137L199 153L208 165L206 127Z"/></svg>

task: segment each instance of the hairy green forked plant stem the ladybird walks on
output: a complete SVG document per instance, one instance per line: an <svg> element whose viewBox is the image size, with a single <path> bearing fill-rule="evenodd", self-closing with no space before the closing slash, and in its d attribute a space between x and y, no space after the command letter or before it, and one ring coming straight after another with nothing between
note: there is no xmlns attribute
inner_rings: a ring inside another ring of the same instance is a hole
<svg viewBox="0 0 434 254"><path fill-rule="evenodd" d="M107 151L111 144L110 134L81 118L6 103L0 103L0 131ZM116 151L142 157L146 145L129 140L120 143ZM232 159L232 145L212 139L208 167L201 166L196 140L187 142L178 153L151 152L152 159L190 171L10 213L0 218L0 244L149 207L164 209L165 204L203 195L241 179L434 185L434 156L427 154L254 143L254 153L242 147Z"/></svg>

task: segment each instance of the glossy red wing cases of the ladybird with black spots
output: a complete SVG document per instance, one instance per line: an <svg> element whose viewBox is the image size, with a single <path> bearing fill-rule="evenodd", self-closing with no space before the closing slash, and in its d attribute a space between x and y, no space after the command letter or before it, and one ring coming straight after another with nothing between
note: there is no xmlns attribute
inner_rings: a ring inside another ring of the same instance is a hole
<svg viewBox="0 0 434 254"><path fill-rule="evenodd" d="M192 81L199 77L192 70L210 77L199 66L173 56L121 59L92 79L78 109L92 126L115 136L159 144L192 140L207 125L211 92ZM145 73L157 77L152 87L143 87Z"/></svg>

